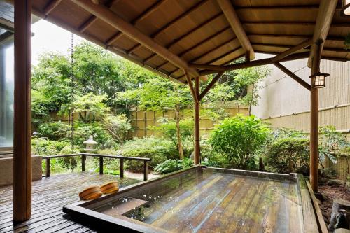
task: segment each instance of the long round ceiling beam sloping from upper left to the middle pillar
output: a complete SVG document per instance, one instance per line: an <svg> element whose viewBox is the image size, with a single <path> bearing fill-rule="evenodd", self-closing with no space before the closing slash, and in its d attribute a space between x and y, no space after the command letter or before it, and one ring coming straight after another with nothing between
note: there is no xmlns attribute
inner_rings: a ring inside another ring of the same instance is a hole
<svg viewBox="0 0 350 233"><path fill-rule="evenodd" d="M162 45L156 43L152 38L146 36L142 31L134 27L134 25L130 24L130 22L126 22L125 20L123 20L122 17L118 16L116 13L113 13L113 11L109 10L109 8L106 8L106 6L97 6L90 0L72 1L81 8L87 10L87 12L91 13L92 15L96 15L97 17L99 17L99 19L110 24L119 31L122 31L125 35L129 36L135 41L141 43L149 50L158 53L158 55L160 55L164 59L169 60L169 62L172 62L172 64L174 64L175 66L178 66L179 68L188 71L188 73L190 73L193 77L200 76L198 71L188 66L188 63L185 60L174 55L174 53L170 52L169 50L167 50L167 48L163 47Z"/></svg>

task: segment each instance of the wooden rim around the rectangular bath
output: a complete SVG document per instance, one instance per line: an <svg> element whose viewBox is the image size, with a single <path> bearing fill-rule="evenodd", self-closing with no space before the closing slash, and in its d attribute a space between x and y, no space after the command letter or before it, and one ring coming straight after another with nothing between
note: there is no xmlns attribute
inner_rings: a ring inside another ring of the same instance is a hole
<svg viewBox="0 0 350 233"><path fill-rule="evenodd" d="M141 190L145 188L146 185L151 185L158 183L160 181L169 180L176 176L181 176L182 174L188 174L190 171L196 169L211 169L225 174L234 174L237 176L247 176L254 178L269 179L275 181L290 181L297 183L297 191L299 192L301 205L302 205L302 228L304 232L328 232L325 222L323 220L321 210L319 209L318 203L316 202L316 197L314 192L311 190L309 181L307 181L302 174L275 174L262 171L246 171L238 169L223 169L217 167L207 167L203 165L196 165L187 169L182 169L180 171L174 171L170 174L160 176L158 178L153 178L148 181L141 181L134 185L121 188L118 192L111 195L104 195L99 199L94 199L91 201L80 201L68 206L63 206L63 212L68 213L73 220L77 220L79 223L83 223L89 227L95 227L97 230L123 230L123 232L169 232L159 227L143 223L132 218L127 218L125 216L108 216L104 213L99 213L93 211L92 209L103 204L111 202L111 200L116 200L125 197L128 192ZM314 218L317 225L311 224L310 219Z"/></svg>

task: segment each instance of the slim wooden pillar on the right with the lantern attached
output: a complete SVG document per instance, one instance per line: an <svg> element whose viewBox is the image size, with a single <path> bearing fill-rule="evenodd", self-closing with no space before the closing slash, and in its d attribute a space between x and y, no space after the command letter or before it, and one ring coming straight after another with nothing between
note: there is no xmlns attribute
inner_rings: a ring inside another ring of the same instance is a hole
<svg viewBox="0 0 350 233"><path fill-rule="evenodd" d="M320 45L316 43L316 52L312 58L311 75L320 70ZM311 80L310 95L310 183L314 192L318 192L318 89L313 87Z"/></svg>

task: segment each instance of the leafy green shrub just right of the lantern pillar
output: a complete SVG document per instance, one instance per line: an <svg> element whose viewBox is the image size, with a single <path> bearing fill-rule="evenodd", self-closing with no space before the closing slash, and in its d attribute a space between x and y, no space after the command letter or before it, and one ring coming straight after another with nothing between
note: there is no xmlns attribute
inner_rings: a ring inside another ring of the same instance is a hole
<svg viewBox="0 0 350 233"><path fill-rule="evenodd" d="M322 167L325 158L336 163L336 154L342 153L344 148L350 146L349 141L346 140L344 134L337 132L332 125L319 127L318 133L318 156Z"/></svg>

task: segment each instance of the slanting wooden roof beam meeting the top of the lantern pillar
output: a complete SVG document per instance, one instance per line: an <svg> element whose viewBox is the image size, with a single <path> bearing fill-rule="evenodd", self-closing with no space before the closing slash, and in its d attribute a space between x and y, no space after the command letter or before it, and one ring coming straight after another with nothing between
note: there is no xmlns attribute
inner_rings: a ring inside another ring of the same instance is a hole
<svg viewBox="0 0 350 233"><path fill-rule="evenodd" d="M317 13L316 25L314 29L314 35L312 36L313 43L311 45L311 51L309 59L307 60L307 66L311 67L312 59L316 55L316 43L322 41L320 44L319 52L321 54L324 41L327 38L330 25L332 24L335 8L337 7L337 0L321 0L320 7Z"/></svg>

